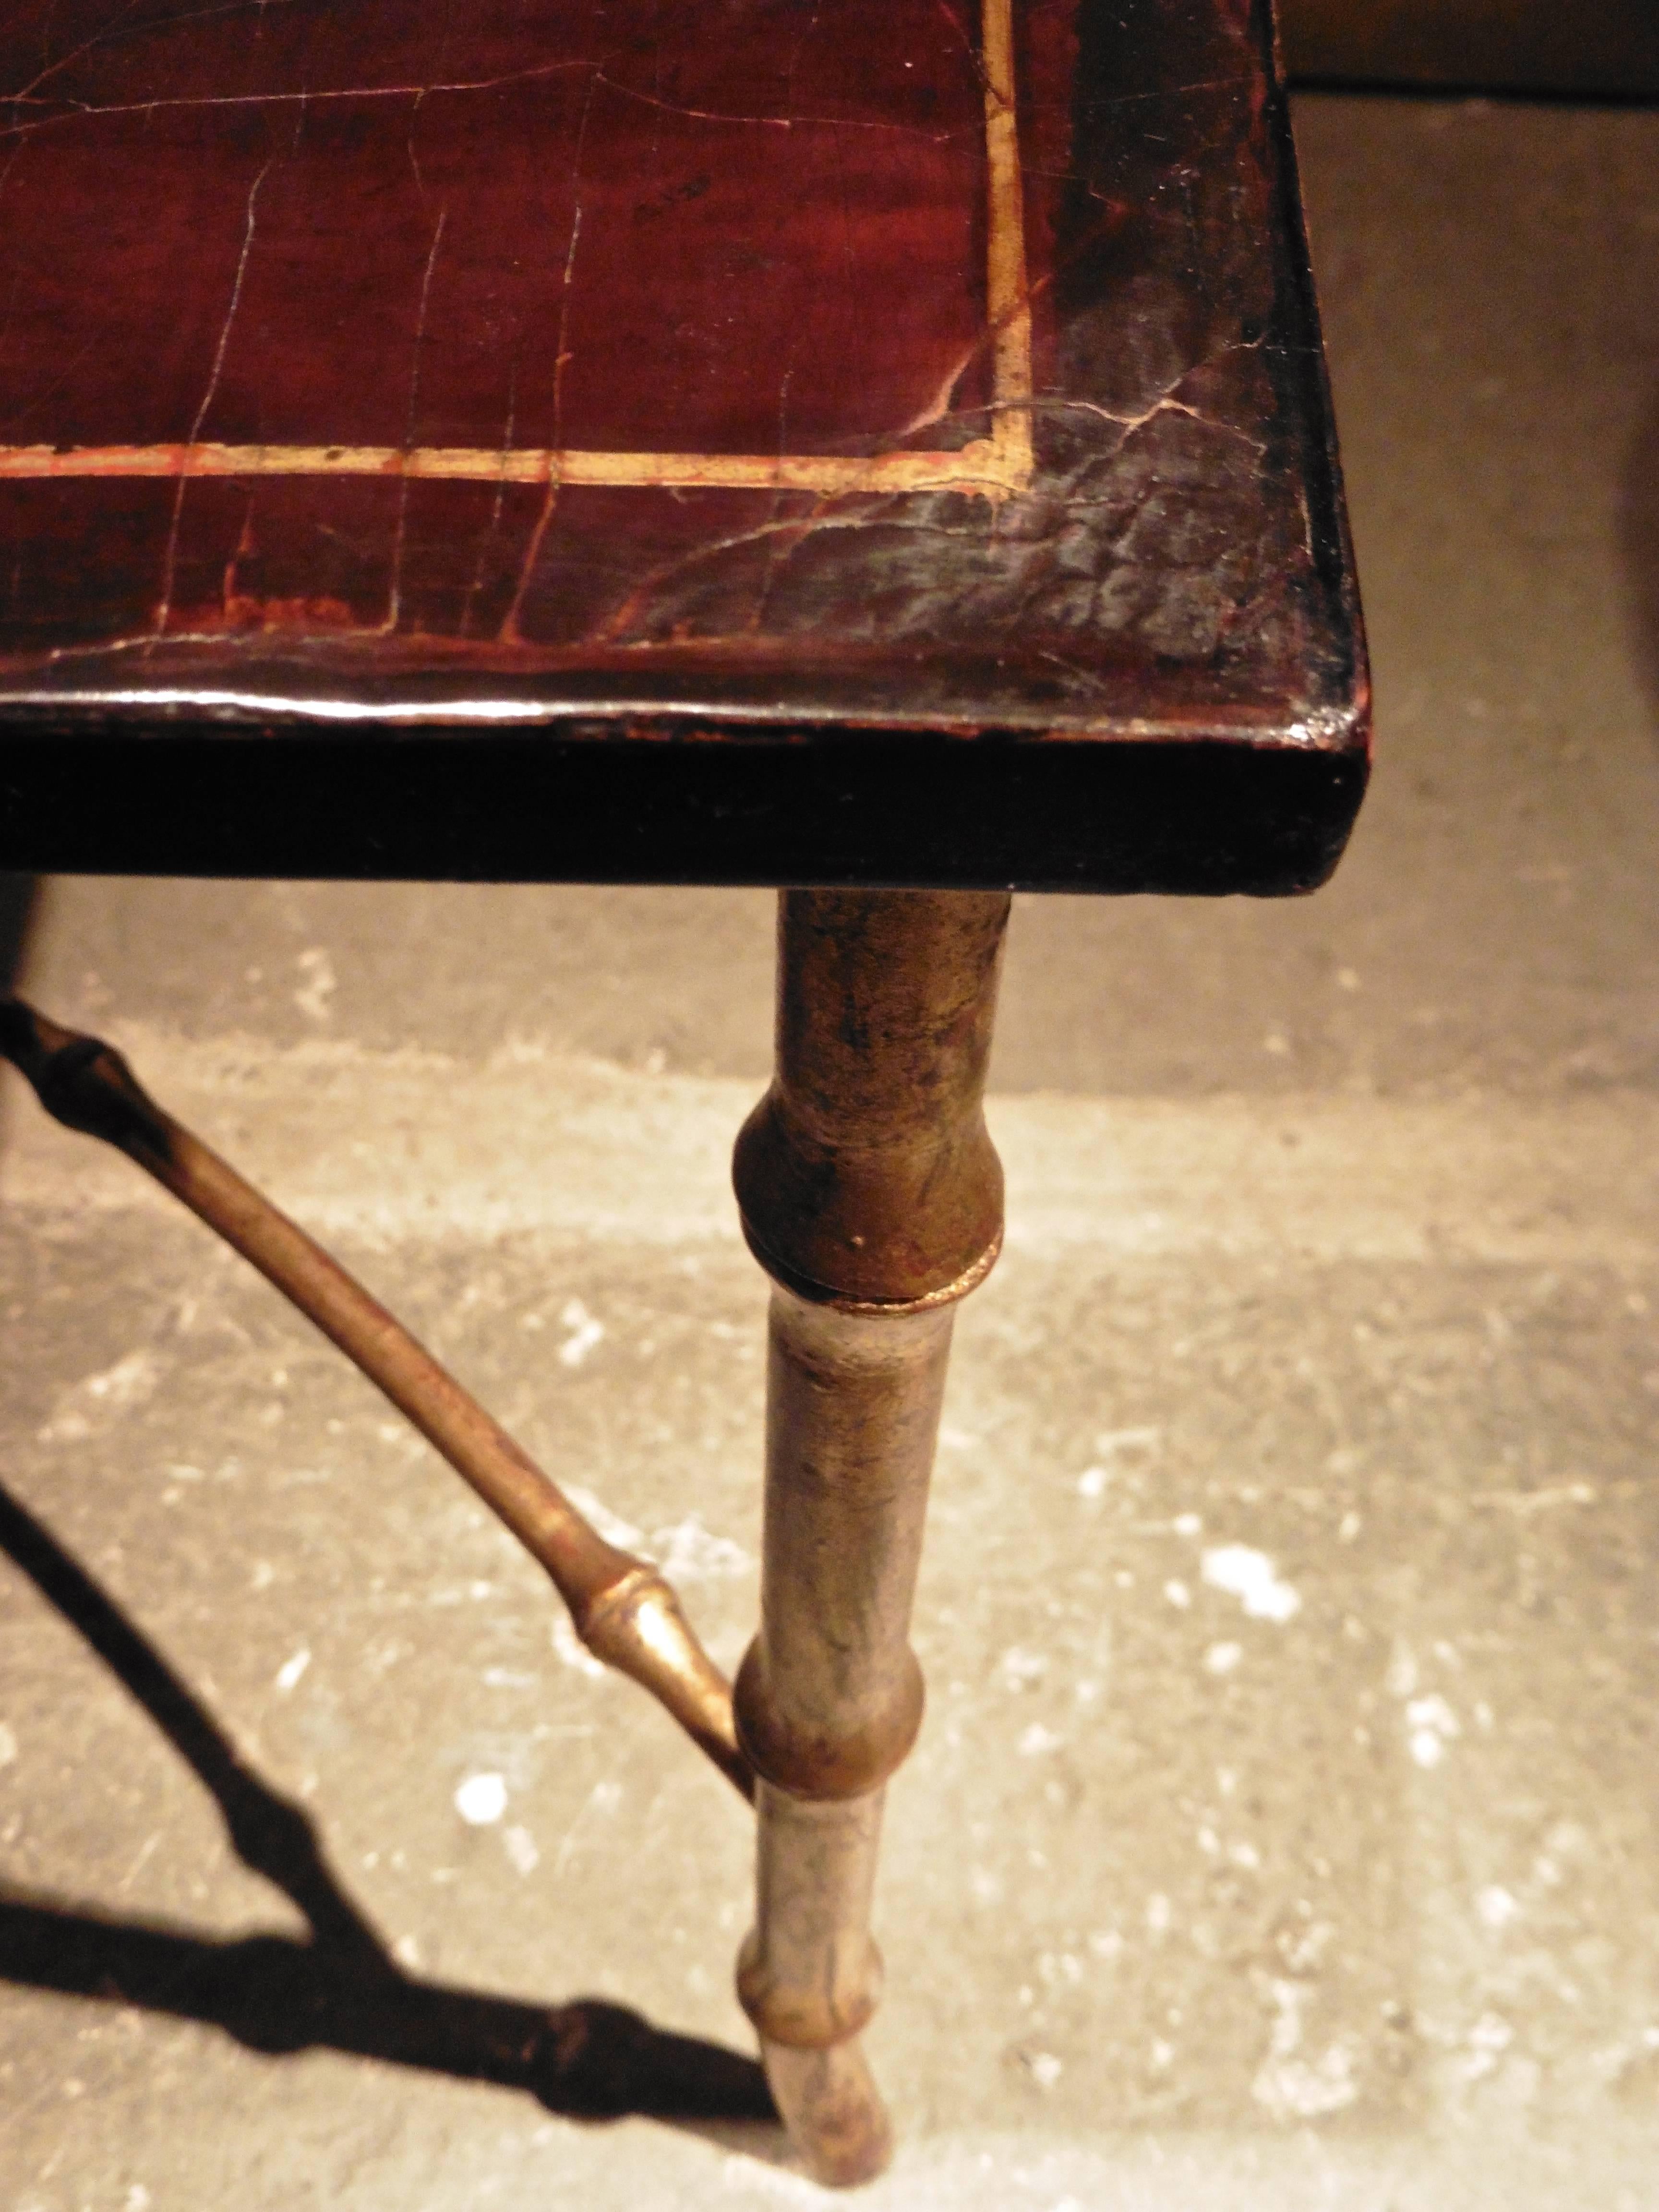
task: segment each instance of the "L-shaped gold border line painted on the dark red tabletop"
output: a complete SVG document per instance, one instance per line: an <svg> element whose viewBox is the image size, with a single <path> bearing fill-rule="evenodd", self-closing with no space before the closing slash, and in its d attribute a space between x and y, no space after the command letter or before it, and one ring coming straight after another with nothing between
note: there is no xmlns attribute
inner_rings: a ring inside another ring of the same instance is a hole
<svg viewBox="0 0 1659 2212"><path fill-rule="evenodd" d="M615 489L978 491L1031 484L1031 288L1013 84L1013 0L982 0L987 153L987 316L991 436L956 453L595 453L460 445L0 445L0 480L389 476L476 484L602 484Z"/></svg>

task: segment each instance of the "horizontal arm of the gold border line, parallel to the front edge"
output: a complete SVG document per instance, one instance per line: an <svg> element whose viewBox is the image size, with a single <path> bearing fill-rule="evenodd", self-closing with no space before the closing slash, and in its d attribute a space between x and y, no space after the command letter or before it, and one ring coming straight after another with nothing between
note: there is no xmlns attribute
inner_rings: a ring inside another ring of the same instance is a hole
<svg viewBox="0 0 1659 2212"><path fill-rule="evenodd" d="M389 476L471 484L734 491L1015 491L1002 440L956 453L580 453L467 445L7 445L0 478Z"/></svg>

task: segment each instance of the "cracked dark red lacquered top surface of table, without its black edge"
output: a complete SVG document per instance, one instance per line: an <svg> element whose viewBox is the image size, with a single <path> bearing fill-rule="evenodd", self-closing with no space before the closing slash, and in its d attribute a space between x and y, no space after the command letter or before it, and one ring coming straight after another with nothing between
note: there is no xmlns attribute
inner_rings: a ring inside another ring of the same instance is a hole
<svg viewBox="0 0 1659 2212"><path fill-rule="evenodd" d="M1155 655L1329 706L1252 11L1128 13L13 7L11 664L922 648L1086 712Z"/></svg>

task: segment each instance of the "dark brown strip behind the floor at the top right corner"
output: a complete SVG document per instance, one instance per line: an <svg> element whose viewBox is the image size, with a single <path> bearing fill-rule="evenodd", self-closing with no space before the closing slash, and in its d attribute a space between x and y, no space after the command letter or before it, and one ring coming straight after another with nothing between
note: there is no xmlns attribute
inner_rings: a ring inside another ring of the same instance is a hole
<svg viewBox="0 0 1659 2212"><path fill-rule="evenodd" d="M1659 97L1659 0L1279 0L1303 82Z"/></svg>

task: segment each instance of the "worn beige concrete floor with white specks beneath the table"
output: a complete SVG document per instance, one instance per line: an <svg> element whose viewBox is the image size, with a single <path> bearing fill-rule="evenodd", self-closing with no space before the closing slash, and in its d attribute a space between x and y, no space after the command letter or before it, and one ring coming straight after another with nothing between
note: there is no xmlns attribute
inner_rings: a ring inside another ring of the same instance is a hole
<svg viewBox="0 0 1659 2212"><path fill-rule="evenodd" d="M1378 774L1310 902L1015 916L872 2205L1659 2208L1659 113L1298 137ZM22 980L737 1659L768 898L62 880ZM818 2201L734 2057L737 1801L2 1104L0 2208Z"/></svg>

